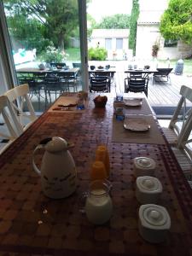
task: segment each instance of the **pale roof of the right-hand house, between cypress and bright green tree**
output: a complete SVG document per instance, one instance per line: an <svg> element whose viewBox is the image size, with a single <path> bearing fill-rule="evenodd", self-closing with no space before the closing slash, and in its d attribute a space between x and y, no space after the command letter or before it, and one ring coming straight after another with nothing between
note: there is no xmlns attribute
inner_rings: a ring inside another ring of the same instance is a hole
<svg viewBox="0 0 192 256"><path fill-rule="evenodd" d="M160 10L142 11L137 20L137 24L159 24L162 14L163 11Z"/></svg>

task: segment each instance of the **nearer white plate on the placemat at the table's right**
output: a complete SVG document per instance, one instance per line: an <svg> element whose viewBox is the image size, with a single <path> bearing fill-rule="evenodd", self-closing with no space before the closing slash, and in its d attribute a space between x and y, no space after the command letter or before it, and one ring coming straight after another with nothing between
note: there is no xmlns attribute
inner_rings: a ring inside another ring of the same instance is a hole
<svg viewBox="0 0 192 256"><path fill-rule="evenodd" d="M130 131L148 131L150 125L142 118L126 118L124 120L124 128Z"/></svg>

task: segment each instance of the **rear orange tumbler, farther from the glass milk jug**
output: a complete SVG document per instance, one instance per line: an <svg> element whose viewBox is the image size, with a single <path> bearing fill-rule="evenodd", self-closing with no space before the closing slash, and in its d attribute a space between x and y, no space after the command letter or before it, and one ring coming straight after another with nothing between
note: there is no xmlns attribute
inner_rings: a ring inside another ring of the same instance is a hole
<svg viewBox="0 0 192 256"><path fill-rule="evenodd" d="M109 177L110 162L109 162L108 148L105 145L100 145L96 148L96 160L100 160L103 162L106 168L107 177Z"/></svg>

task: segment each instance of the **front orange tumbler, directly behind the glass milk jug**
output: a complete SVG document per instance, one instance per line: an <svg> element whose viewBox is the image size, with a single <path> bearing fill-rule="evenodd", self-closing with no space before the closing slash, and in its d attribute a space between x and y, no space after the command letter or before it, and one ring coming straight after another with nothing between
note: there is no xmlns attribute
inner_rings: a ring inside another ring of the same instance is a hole
<svg viewBox="0 0 192 256"><path fill-rule="evenodd" d="M96 160L93 162L90 170L90 180L106 179L107 172L102 161Z"/></svg>

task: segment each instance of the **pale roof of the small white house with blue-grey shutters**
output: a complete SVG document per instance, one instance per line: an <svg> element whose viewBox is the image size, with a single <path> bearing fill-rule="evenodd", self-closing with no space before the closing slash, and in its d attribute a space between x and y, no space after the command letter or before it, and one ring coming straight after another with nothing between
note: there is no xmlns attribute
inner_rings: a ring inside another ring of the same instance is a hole
<svg viewBox="0 0 192 256"><path fill-rule="evenodd" d="M129 29L93 29L91 38L127 38Z"/></svg>

